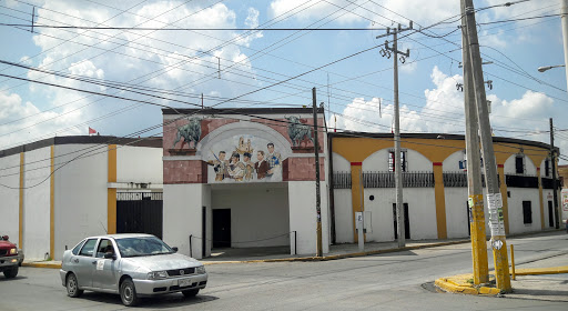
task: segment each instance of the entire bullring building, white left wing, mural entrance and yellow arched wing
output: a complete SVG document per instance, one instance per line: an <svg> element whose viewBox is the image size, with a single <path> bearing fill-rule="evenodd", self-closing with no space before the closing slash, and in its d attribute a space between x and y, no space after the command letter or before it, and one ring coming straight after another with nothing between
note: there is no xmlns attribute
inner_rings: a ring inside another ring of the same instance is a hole
<svg viewBox="0 0 568 311"><path fill-rule="evenodd" d="M153 233L195 258L217 248L314 254L318 219L326 253L357 242L365 212L366 242L396 239L392 133L329 132L318 109L315 150L312 109L162 113L162 139L63 137L0 151L2 233L29 259L61 259L105 232ZM568 217L552 202L548 144L494 138L494 148L507 234ZM402 159L406 238L467 238L464 137L402 134Z"/></svg>

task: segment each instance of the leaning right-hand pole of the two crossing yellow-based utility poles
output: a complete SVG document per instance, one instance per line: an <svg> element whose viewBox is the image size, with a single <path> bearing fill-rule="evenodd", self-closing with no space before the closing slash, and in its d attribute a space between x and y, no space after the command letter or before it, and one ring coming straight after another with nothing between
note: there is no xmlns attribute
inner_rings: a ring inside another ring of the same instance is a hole
<svg viewBox="0 0 568 311"><path fill-rule="evenodd" d="M485 181L487 184L487 204L489 210L489 225L491 229L491 247L495 265L495 279L497 288L501 292L510 292L509 261L507 255L507 242L505 239L505 225L503 219L503 198L499 192L497 179L497 163L493 149L491 124L487 111L485 84L479 53L479 41L475 21L473 0L463 0L469 43L469 59L471 61L473 82L475 88L475 101L477 118L481 137L481 151L484 156ZM504 181L505 182L505 181Z"/></svg>

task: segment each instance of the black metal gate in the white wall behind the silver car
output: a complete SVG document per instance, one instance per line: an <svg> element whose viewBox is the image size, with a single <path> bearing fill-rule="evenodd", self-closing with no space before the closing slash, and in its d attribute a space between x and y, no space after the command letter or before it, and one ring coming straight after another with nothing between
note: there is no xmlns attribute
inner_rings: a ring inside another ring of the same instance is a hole
<svg viewBox="0 0 568 311"><path fill-rule="evenodd" d="M116 233L149 233L162 239L162 192L116 192Z"/></svg>

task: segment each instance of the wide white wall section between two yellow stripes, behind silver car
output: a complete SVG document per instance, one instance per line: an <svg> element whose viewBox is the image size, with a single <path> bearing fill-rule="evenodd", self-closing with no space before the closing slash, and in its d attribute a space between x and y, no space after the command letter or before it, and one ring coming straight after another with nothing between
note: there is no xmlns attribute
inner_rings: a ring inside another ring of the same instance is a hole
<svg viewBox="0 0 568 311"><path fill-rule="evenodd" d="M92 152L65 164L87 150ZM105 144L55 146L55 260L61 260L65 245L106 232L109 160L101 152L105 150Z"/></svg>

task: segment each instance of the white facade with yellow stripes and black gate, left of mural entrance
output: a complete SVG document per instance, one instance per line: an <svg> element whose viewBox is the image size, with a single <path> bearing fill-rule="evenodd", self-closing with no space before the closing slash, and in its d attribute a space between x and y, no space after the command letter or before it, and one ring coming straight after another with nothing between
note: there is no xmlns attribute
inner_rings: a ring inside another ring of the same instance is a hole
<svg viewBox="0 0 568 311"><path fill-rule="evenodd" d="M55 137L0 151L1 233L29 260L61 260L84 237L132 230L130 205L162 192L161 147L161 138Z"/></svg>

